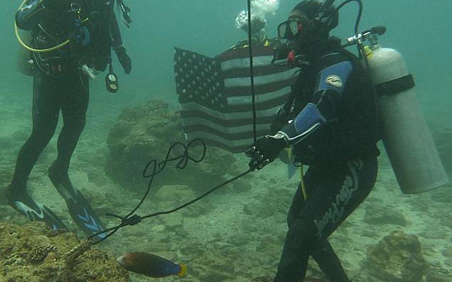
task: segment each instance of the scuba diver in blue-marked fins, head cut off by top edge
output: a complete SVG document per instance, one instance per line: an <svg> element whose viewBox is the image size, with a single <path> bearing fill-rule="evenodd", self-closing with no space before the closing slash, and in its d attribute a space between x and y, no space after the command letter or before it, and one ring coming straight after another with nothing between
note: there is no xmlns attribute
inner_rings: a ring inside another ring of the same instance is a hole
<svg viewBox="0 0 452 282"><path fill-rule="evenodd" d="M122 0L117 1L124 8ZM58 138L58 156L48 176L65 199L74 222L86 234L104 229L88 201L72 184L68 170L85 125L89 78L104 71L107 65L112 71L111 49L126 74L132 69L113 8L113 0L26 0L15 15L16 28L31 32L31 47L25 47L30 50L29 60L36 71L33 129L19 151L6 199L31 221L44 221L55 230L66 226L55 212L31 198L26 185L39 155L55 133L60 111L64 126Z"/></svg>

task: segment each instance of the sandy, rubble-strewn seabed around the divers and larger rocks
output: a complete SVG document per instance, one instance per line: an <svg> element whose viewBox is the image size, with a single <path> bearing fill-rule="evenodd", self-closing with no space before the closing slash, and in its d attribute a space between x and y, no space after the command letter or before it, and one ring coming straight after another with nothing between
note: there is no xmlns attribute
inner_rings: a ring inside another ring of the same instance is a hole
<svg viewBox="0 0 452 282"><path fill-rule="evenodd" d="M17 152L31 131L30 104L11 99L12 95L12 90L2 90L0 93L1 193L12 176ZM96 105L96 108L99 106ZM105 140L116 114L111 109L88 111L87 124L70 169L73 183L91 199L99 214L126 214L142 195L114 184L104 174L105 156L108 153ZM28 189L37 201L54 210L71 231L82 237L83 234L79 233L66 211L64 200L47 178L47 168L56 156L56 138L60 129L61 120L57 134L30 175ZM243 169L246 169L246 158L237 158L244 162ZM183 172L181 175L183 177ZM271 276L276 271L284 242L286 212L295 193L297 179L294 177L288 180L286 166L275 162L245 180L251 184L251 188L246 191L240 191L240 187L225 187L194 204L194 209L203 209L202 214L186 216L187 213L181 211L148 219L137 226L122 229L99 248L115 255L126 251L151 252L184 263L189 269L187 277L182 279L152 280L131 275L131 281L250 282L256 277ZM206 187L217 184L204 183ZM143 191L145 189L143 187ZM367 259L368 247L376 245L383 236L394 230L417 236L427 263L451 273L451 201L442 201L441 195L437 196L443 193L440 190L421 195L403 195L386 155L379 157L377 184L373 192L330 236L331 244L354 282L371 281L366 276L367 267L363 263ZM157 207L166 207L156 205L151 196L138 211L139 214L145 215L156 211ZM168 207L190 200L167 197ZM364 220L366 210L373 206L394 211L399 219L404 220L367 223ZM108 226L118 223L112 217L102 216L102 219ZM0 220L26 221L5 205L3 196L0 196ZM319 275L315 263L310 264L309 273ZM446 277L445 274L444 279L452 281L452 275Z"/></svg>

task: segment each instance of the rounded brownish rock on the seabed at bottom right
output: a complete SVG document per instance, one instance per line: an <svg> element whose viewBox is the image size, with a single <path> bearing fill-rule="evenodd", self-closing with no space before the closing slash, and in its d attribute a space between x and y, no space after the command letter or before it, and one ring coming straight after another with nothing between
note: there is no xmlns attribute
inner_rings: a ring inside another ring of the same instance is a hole
<svg viewBox="0 0 452 282"><path fill-rule="evenodd" d="M418 238L396 230L368 248L364 267L382 281L421 282L428 265Z"/></svg>

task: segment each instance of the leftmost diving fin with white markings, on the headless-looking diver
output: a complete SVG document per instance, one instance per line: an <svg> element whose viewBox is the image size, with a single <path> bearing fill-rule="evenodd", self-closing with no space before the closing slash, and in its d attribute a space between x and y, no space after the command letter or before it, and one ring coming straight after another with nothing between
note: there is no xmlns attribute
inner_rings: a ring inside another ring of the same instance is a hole
<svg viewBox="0 0 452 282"><path fill-rule="evenodd" d="M13 195L11 187L8 186L5 194L8 205L23 213L30 221L44 221L52 230L67 229L63 221L52 210L35 202L26 191Z"/></svg>

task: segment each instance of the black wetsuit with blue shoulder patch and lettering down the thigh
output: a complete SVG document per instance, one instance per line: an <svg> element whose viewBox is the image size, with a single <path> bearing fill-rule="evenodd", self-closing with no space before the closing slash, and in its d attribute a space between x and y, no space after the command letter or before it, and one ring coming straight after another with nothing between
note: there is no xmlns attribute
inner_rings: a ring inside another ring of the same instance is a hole
<svg viewBox="0 0 452 282"><path fill-rule="evenodd" d="M371 85L358 60L337 48L303 67L293 87L285 118L296 119L313 103L326 122L293 146L296 161L309 165L306 199L299 187L275 282L302 281L309 255L331 282L349 281L327 238L375 184L379 152Z"/></svg>

